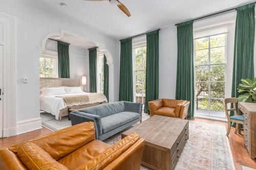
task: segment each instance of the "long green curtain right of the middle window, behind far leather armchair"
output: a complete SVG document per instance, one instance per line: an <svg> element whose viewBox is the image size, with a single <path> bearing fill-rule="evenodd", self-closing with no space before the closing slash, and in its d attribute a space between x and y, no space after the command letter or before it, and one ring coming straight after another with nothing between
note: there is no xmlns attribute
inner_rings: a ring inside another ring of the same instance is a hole
<svg viewBox="0 0 256 170"><path fill-rule="evenodd" d="M144 112L149 114L148 102L158 99L159 30L146 33L146 48L146 99Z"/></svg>

